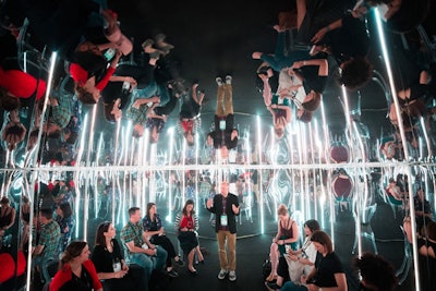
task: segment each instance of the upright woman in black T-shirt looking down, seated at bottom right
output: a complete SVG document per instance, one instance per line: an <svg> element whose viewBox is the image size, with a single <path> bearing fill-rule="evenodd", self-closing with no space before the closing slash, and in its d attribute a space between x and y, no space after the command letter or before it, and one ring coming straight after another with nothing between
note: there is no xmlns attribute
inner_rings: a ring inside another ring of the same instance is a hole
<svg viewBox="0 0 436 291"><path fill-rule="evenodd" d="M294 283L288 281L280 289L281 291L290 290L319 290L332 289L337 291L346 291L347 277L342 264L338 255L334 251L334 244L330 237L324 231L317 230L312 233L311 241L317 251L315 268L307 276L301 277L301 282Z"/></svg>

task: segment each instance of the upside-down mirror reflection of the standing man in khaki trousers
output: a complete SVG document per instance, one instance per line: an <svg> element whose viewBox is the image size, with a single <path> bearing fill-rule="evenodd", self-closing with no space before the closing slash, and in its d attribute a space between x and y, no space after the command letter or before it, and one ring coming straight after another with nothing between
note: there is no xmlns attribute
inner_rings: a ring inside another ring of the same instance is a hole
<svg viewBox="0 0 436 291"><path fill-rule="evenodd" d="M207 144L220 150L221 158L229 156L229 149L238 145L238 130L234 128L232 77L226 76L226 84L217 77L218 94L215 111L215 129L207 135Z"/></svg>

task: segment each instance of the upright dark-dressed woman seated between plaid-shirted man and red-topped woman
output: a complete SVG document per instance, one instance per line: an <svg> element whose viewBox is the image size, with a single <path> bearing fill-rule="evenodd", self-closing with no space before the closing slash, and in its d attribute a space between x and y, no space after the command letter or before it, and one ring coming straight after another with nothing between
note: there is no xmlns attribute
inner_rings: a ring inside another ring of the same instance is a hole
<svg viewBox="0 0 436 291"><path fill-rule="evenodd" d="M157 213L156 204L153 202L147 204L147 214L143 218L143 226L146 235L152 237L149 241L153 244L161 245L165 251L167 251L167 272L170 277L178 277L179 274L172 268L172 260L174 259L175 264L180 267L184 266L184 263L180 259L180 257L175 254L174 246L170 239L165 235L164 231L164 221L160 219L159 214Z"/></svg>

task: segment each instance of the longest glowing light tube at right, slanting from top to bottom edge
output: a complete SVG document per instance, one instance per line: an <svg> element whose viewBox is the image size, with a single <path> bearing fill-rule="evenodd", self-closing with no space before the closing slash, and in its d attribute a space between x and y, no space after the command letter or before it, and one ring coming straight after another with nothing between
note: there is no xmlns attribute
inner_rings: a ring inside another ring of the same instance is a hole
<svg viewBox="0 0 436 291"><path fill-rule="evenodd" d="M405 145L407 138L405 138L405 133L404 133L404 124L402 122L402 116L400 112L400 104L398 101L397 90L396 90L395 83L393 83L392 70L391 70L391 65L390 65L389 53L387 51L385 33L384 33L384 29L382 26L382 17L380 17L378 9L375 9L374 13L375 13L375 21L376 21L376 25L377 25L378 37L380 40L382 53L383 53L383 58L386 63L386 71L387 71L388 77L389 77L390 93L392 95L392 100L393 100L396 113L398 117L398 128L400 130L402 144ZM409 148L407 146L403 147L403 151L404 151L404 159L407 161L410 161ZM410 167L407 167L407 174L408 174L408 177L412 177ZM413 193L412 183L409 183L409 193ZM409 199L409 209L410 209L410 217L415 217L413 199ZM412 226L412 239L413 239L413 241L416 241L416 222L414 219L412 219L411 226ZM417 291L421 291L420 269L419 269L420 262L419 262L419 253L417 253L416 244L412 244L412 251L413 251L413 265L414 265L414 275L415 275L415 288Z"/></svg>

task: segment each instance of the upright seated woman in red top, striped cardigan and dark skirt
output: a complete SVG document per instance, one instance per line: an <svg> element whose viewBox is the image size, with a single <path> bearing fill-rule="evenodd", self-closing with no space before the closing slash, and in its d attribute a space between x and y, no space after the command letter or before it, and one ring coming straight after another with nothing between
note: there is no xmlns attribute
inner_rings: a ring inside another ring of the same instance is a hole
<svg viewBox="0 0 436 291"><path fill-rule="evenodd" d="M187 254L187 270L191 275L197 275L194 268L194 255L198 256L199 263L204 264L204 257L199 251L196 231L198 230L198 217L195 215L194 201L187 199L181 213L175 217L175 230L183 253Z"/></svg>

